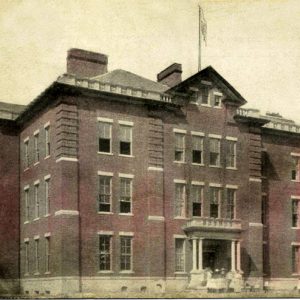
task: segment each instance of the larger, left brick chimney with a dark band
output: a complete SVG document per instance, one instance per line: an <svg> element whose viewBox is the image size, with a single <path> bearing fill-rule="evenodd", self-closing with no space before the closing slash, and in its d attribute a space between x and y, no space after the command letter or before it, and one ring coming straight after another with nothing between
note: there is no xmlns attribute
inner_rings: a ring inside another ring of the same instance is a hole
<svg viewBox="0 0 300 300"><path fill-rule="evenodd" d="M107 55L72 48L67 56L67 73L79 77L94 77L107 73Z"/></svg>

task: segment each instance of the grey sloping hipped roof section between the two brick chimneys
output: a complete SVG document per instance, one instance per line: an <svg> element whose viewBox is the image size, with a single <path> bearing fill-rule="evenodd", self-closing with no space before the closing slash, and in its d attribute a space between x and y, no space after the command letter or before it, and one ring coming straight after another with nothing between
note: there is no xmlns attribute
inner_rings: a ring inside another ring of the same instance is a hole
<svg viewBox="0 0 300 300"><path fill-rule="evenodd" d="M169 89L167 85L152 81L150 79L121 69L116 69L103 75L93 77L91 79L100 81L102 83L109 83L111 85L115 84L124 87L131 87L137 90L145 90L158 93L163 93Z"/></svg>

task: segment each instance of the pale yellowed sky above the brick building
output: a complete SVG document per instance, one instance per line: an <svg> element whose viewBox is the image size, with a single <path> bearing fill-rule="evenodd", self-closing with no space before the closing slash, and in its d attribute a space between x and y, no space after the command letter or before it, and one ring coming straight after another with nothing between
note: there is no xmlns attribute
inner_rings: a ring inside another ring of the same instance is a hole
<svg viewBox="0 0 300 300"><path fill-rule="evenodd" d="M27 104L66 70L70 48L107 54L108 69L156 80L177 62L202 67L248 101L300 123L299 0L0 0L0 101Z"/></svg>

